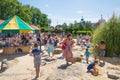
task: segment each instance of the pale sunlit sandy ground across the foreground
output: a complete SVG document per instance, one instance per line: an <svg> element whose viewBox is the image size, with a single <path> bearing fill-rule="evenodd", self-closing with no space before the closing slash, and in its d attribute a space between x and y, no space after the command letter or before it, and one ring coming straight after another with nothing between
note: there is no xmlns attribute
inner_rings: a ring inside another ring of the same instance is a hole
<svg viewBox="0 0 120 80"><path fill-rule="evenodd" d="M79 47L73 50L73 54L83 54ZM47 57L45 54L44 57ZM43 57L43 58L44 58ZM107 72L120 74L120 58L106 58L106 63L101 67L102 74L93 76L86 72L88 64L83 59L73 65L66 66L65 60L60 59L61 54L55 55L56 60L41 66L41 75L38 80L112 80L107 77ZM35 71L33 58L28 54L0 55L0 60L7 58L9 69L0 73L0 80L33 80ZM93 61L93 58L90 58Z"/></svg>

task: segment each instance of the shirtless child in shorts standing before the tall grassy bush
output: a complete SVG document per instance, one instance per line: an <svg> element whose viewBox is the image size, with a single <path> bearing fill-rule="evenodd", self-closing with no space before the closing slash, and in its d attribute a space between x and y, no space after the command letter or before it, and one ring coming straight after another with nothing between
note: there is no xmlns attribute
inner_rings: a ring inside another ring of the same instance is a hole
<svg viewBox="0 0 120 80"><path fill-rule="evenodd" d="M105 56L105 48L106 48L106 46L105 46L105 42L104 41L100 42L99 48L100 48L99 62L100 62L100 60L103 60L103 63L105 63L104 56Z"/></svg>

